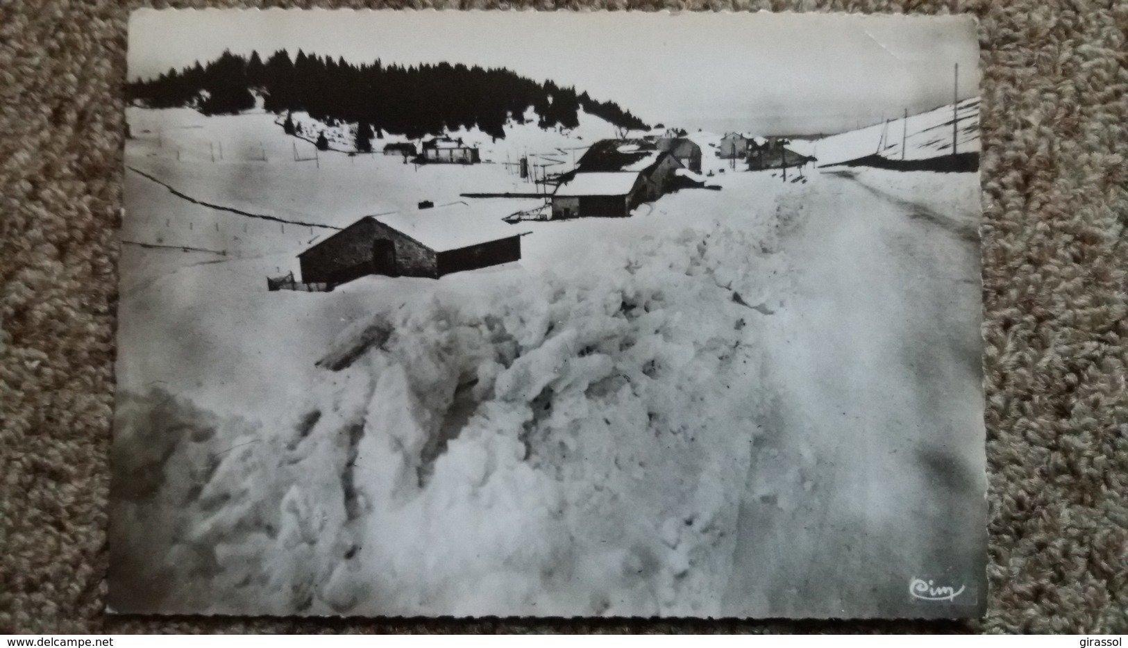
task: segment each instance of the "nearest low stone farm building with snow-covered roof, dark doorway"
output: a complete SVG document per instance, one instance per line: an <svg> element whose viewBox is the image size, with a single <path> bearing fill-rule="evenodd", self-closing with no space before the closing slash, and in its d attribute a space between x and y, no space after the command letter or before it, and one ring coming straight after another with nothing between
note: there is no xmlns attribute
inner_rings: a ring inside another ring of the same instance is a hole
<svg viewBox="0 0 1128 648"><path fill-rule="evenodd" d="M365 216L298 255L303 283L340 286L365 274L429 277L521 259L521 235L464 202Z"/></svg>

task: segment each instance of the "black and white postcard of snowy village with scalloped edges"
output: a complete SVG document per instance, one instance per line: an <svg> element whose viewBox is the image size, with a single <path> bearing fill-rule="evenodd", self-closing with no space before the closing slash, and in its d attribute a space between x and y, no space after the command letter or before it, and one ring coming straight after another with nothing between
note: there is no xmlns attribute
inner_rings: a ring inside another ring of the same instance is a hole
<svg viewBox="0 0 1128 648"><path fill-rule="evenodd" d="M968 16L155 10L109 608L977 618Z"/></svg>

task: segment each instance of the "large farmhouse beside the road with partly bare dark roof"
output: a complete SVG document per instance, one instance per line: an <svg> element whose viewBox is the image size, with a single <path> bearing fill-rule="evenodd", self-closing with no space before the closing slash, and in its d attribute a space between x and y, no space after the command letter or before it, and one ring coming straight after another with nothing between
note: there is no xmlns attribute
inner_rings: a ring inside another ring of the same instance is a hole
<svg viewBox="0 0 1128 648"><path fill-rule="evenodd" d="M565 174L552 198L552 217L629 216L642 202L673 189L684 168L646 140L600 140Z"/></svg>

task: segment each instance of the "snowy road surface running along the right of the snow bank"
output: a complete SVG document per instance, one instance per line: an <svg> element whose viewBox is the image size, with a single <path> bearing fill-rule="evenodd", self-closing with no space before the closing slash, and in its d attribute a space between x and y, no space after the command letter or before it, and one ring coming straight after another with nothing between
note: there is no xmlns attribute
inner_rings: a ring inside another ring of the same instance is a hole
<svg viewBox="0 0 1128 648"><path fill-rule="evenodd" d="M985 490L978 221L852 172L820 179L811 201L826 204L781 240L796 275L766 318L774 406L724 613L904 615L917 577L981 604L986 535L960 529L981 527L985 505L958 503Z"/></svg>

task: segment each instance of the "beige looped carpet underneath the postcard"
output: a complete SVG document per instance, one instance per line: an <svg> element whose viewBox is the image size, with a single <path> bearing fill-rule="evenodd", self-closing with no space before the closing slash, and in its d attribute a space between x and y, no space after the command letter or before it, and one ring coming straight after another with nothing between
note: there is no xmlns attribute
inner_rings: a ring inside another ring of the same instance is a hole
<svg viewBox="0 0 1128 648"><path fill-rule="evenodd" d="M1128 3L558 5L979 16L992 545L971 624L107 618L133 6L0 0L0 632L1128 632Z"/></svg>

